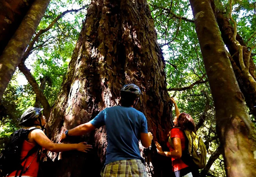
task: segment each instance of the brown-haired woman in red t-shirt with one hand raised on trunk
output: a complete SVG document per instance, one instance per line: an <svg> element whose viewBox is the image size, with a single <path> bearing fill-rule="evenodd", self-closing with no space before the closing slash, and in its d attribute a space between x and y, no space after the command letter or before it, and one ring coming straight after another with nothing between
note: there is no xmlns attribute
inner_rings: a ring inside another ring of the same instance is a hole
<svg viewBox="0 0 256 177"><path fill-rule="evenodd" d="M175 105L176 117L173 121L174 128L168 134L169 142L167 142L167 146L169 151L163 151L160 144L156 142L157 152L160 155L172 158L172 170L175 173L175 177L198 177L198 169L190 168L181 160L182 151L186 147L186 135L183 131L190 130L196 132L195 122L189 114L180 113L175 100L173 98L171 100Z"/></svg>

